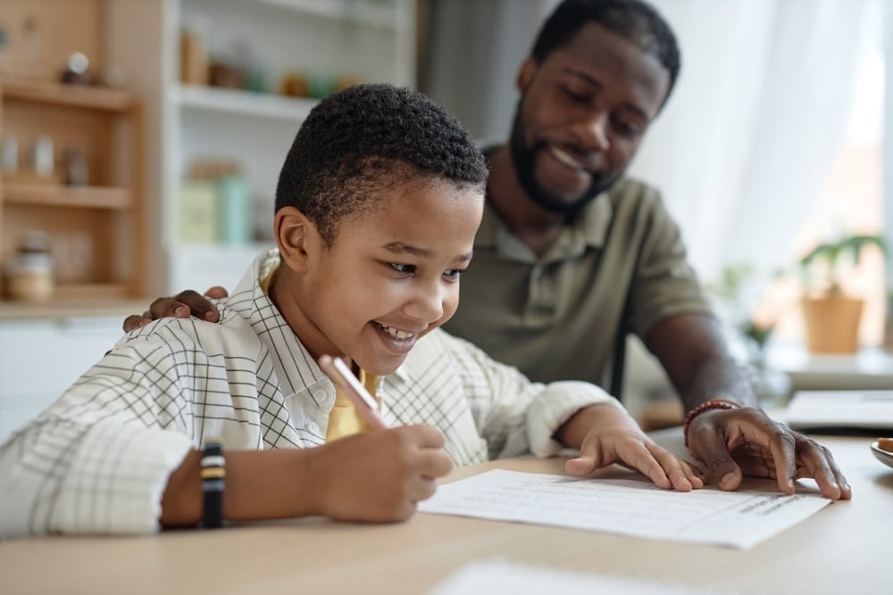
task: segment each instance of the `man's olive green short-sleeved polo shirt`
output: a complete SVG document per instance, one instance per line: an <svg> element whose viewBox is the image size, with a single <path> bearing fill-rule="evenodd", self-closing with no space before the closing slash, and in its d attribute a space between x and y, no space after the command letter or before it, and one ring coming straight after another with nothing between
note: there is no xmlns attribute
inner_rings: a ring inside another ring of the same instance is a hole
<svg viewBox="0 0 893 595"><path fill-rule="evenodd" d="M606 385L623 318L644 338L664 318L711 313L660 194L629 178L540 256L487 204L460 295L447 331L539 382Z"/></svg>

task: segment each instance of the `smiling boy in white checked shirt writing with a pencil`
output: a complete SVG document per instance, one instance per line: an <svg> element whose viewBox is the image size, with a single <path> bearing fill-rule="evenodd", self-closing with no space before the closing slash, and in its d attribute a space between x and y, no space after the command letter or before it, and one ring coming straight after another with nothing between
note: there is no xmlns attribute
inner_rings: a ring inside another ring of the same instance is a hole
<svg viewBox="0 0 893 595"><path fill-rule="evenodd" d="M581 450L574 475L622 461L700 487L596 386L531 384L438 330L486 178L471 136L423 95L363 85L322 101L282 167L278 252L218 303L219 323L165 318L125 335L4 444L0 536L401 520L453 463L562 444ZM322 354L351 362L392 429L366 431ZM223 450L203 453L211 437Z"/></svg>

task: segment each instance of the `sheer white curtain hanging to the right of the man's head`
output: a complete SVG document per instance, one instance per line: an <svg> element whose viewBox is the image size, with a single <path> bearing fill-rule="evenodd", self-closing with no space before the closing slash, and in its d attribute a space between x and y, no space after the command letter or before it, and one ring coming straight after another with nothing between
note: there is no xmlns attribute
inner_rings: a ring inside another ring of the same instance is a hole
<svg viewBox="0 0 893 595"><path fill-rule="evenodd" d="M659 186L701 277L796 261L855 99L871 0L655 0L682 74L631 169Z"/></svg>

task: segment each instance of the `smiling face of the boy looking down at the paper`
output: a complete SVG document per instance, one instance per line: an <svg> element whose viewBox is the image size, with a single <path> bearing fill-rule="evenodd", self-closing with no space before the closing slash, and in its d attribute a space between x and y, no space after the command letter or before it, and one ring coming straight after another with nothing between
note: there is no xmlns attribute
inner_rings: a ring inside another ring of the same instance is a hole
<svg viewBox="0 0 893 595"><path fill-rule="evenodd" d="M343 220L328 249L309 226L297 311L280 310L313 357L347 357L382 376L455 313L483 195L424 180L376 202L371 213Z"/></svg>

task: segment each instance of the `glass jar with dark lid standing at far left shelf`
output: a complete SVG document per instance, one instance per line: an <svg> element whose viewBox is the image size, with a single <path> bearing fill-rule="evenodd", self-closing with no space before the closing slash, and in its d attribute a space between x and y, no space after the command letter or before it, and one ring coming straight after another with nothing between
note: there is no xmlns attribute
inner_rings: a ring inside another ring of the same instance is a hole
<svg viewBox="0 0 893 595"><path fill-rule="evenodd" d="M29 231L19 252L6 266L9 296L20 302L46 302L53 297L53 259L46 232Z"/></svg>

